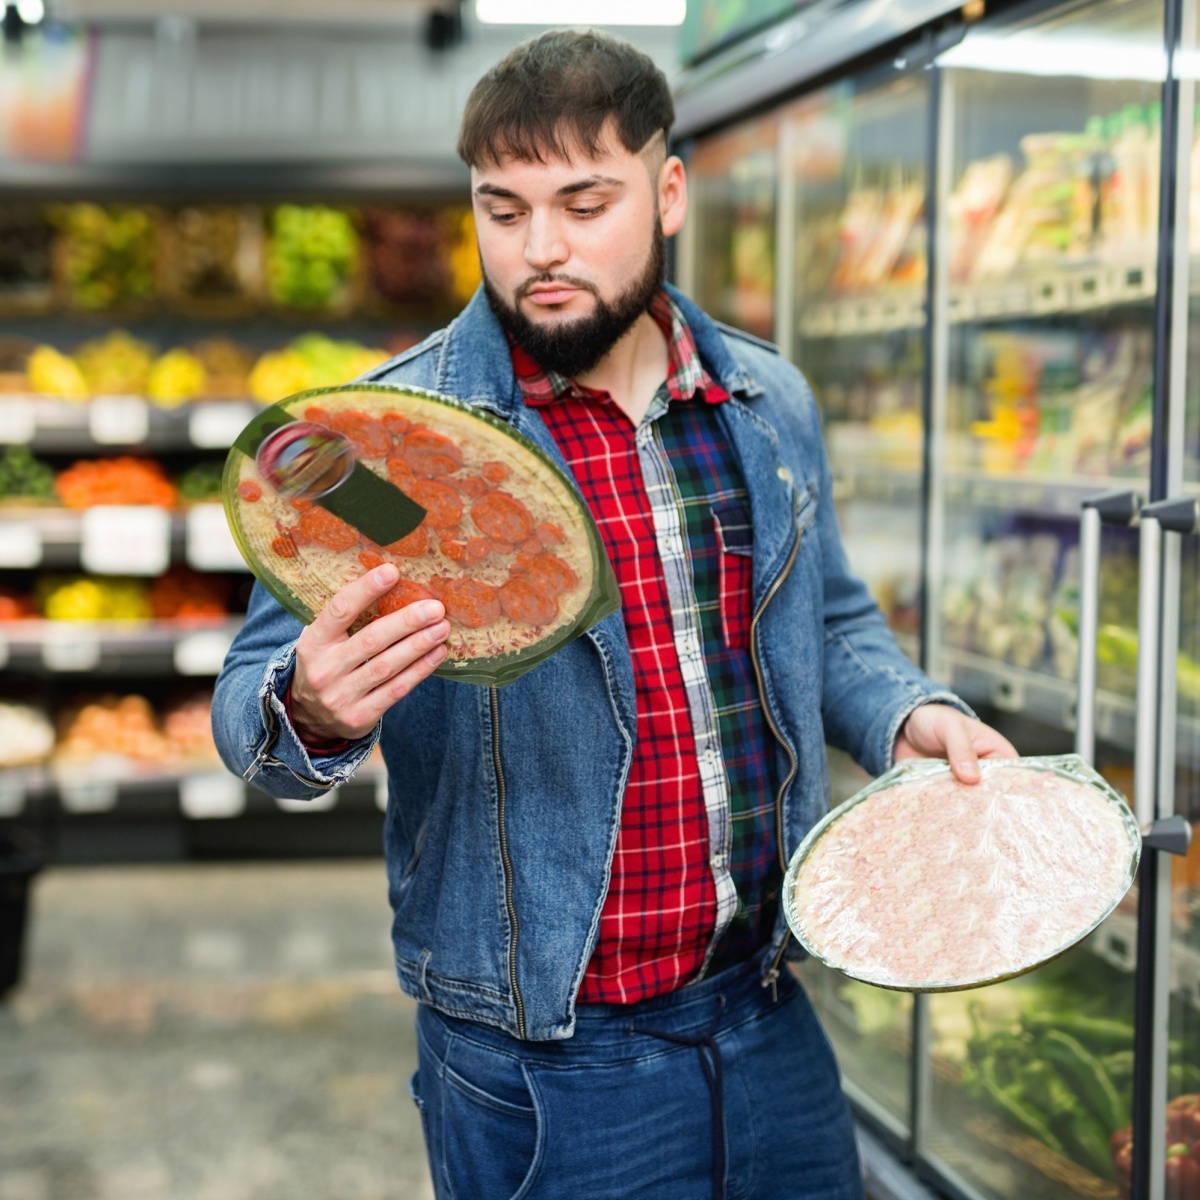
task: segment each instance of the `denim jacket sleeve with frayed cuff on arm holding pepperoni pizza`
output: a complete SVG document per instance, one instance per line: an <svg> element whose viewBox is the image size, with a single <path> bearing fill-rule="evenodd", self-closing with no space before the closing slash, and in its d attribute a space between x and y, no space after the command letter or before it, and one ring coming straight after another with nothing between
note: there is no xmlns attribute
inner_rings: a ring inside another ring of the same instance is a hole
<svg viewBox="0 0 1200 1200"><path fill-rule="evenodd" d="M224 764L264 792L289 799L312 799L344 782L379 738L376 726L340 754L305 749L283 704L302 628L256 583L212 694L212 734Z"/></svg>

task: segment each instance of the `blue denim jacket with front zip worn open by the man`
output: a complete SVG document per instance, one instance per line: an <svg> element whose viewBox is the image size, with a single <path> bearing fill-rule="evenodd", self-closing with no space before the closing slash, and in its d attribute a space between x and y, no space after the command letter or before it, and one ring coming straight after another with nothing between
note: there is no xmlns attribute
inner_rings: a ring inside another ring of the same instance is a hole
<svg viewBox="0 0 1200 1200"><path fill-rule="evenodd" d="M672 295L708 371L733 396L719 412L750 494L752 650L774 737L786 865L828 805L826 739L878 774L913 708L961 704L908 662L851 574L800 373ZM368 378L478 404L565 467L538 410L522 402L508 341L481 293ZM373 736L329 757L310 756L280 698L300 629L256 587L214 698L226 763L276 796L314 797L348 779L378 739L390 779L384 838L401 985L520 1038L570 1037L637 727L620 613L506 688L433 677ZM768 971L788 948L780 916Z"/></svg>

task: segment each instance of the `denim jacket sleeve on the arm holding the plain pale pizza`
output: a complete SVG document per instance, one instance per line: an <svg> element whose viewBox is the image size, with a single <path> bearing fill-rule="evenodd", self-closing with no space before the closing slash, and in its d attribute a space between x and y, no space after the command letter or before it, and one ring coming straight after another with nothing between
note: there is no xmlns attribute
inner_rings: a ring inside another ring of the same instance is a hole
<svg viewBox="0 0 1200 1200"><path fill-rule="evenodd" d="M815 522L824 570L826 737L878 775L893 766L896 737L913 709L940 703L968 716L974 713L953 691L913 666L866 584L851 570L834 511L833 476L815 406L812 412L820 460Z"/></svg>

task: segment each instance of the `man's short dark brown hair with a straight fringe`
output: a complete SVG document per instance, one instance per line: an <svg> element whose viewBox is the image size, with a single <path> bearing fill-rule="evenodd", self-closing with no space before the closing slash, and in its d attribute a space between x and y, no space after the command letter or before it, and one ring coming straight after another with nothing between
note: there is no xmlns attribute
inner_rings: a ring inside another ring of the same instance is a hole
<svg viewBox="0 0 1200 1200"><path fill-rule="evenodd" d="M610 118L630 154L658 132L666 138L674 124L666 76L620 38L551 30L522 42L472 89L458 157L468 167L568 158L576 149L595 157Z"/></svg>

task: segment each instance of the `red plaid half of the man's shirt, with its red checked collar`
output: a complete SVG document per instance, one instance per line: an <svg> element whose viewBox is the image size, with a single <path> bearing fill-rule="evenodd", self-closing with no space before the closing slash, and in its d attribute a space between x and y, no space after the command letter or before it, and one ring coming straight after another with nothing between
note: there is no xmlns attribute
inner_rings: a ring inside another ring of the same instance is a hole
<svg viewBox="0 0 1200 1200"><path fill-rule="evenodd" d="M672 402L728 400L700 362L686 322L660 293L650 306L670 343ZM634 1003L696 977L712 941L716 893L708 820L671 605L642 482L636 428L607 392L544 372L520 347L512 365L541 408L599 526L620 586L637 694L637 745L622 806L600 937L583 1003Z"/></svg>

